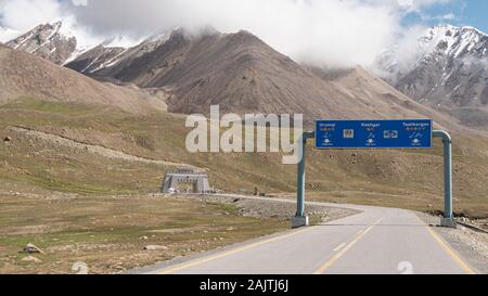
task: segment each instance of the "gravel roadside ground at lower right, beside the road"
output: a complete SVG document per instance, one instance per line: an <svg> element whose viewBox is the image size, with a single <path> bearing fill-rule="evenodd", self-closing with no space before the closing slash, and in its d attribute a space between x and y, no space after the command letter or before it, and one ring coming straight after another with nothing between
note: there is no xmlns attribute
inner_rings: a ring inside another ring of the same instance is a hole
<svg viewBox="0 0 488 296"><path fill-rule="evenodd" d="M419 217L429 224L439 224L439 217L418 213ZM463 226L458 229L436 228L446 240L467 262L479 273L488 274L488 234L471 230Z"/></svg>

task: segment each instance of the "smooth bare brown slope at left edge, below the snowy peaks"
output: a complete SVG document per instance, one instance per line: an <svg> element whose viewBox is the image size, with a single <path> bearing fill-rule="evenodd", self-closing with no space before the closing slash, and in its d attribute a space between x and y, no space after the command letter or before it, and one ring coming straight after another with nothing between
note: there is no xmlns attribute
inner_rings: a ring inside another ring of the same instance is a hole
<svg viewBox="0 0 488 296"><path fill-rule="evenodd" d="M102 83L22 51L0 46L0 104L33 98L97 104L132 113L165 110L163 95L149 90Z"/></svg>

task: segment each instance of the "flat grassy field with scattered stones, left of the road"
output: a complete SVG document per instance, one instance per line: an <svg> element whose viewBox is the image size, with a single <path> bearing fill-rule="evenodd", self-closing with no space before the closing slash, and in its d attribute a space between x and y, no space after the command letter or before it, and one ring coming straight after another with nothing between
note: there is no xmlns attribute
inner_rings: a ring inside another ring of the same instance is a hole
<svg viewBox="0 0 488 296"><path fill-rule="evenodd" d="M0 194L0 273L115 273L287 229L232 205L182 197ZM23 261L33 243L41 262ZM147 245L164 246L144 250Z"/></svg>

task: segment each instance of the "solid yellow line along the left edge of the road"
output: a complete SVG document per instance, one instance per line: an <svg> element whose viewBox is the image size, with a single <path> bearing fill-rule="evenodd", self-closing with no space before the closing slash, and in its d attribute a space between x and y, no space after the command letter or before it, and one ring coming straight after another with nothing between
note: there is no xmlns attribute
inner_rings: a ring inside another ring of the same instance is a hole
<svg viewBox="0 0 488 296"><path fill-rule="evenodd" d="M248 249L252 249L252 248L265 245L265 244L269 244L269 243L273 243L273 242L280 241L280 240L284 240L284 239L287 239L287 237L291 237L291 236L294 236L294 235L297 235L297 234L300 234L300 233L304 233L304 232L308 232L308 231L311 231L311 230L314 230L314 229L317 229L317 227L305 228L305 229L301 229L301 230L298 230L298 231L294 231L294 232L288 233L288 234L284 234L284 235L272 237L272 239L269 239L269 240L266 240L266 241L261 241L261 242L257 242L257 243L254 243L254 244L245 245L245 246L237 247L237 248L234 248L234 249L231 249L231 250L228 250L228 252L223 252L223 253L220 253L220 254L216 254L216 255L210 256L210 257L206 257L206 258L201 258L201 259L195 259L195 260L192 260L192 261L183 262L181 265L177 265L175 267L169 267L167 269L163 269L160 271L157 271L156 274L171 274L171 273L175 273L175 272L178 272L178 271L191 268L191 267L195 267L195 266L200 266L200 265L213 261L213 260L221 259L221 258L224 258L224 257L228 257L228 256L231 256L231 255L244 252L244 250L248 250Z"/></svg>

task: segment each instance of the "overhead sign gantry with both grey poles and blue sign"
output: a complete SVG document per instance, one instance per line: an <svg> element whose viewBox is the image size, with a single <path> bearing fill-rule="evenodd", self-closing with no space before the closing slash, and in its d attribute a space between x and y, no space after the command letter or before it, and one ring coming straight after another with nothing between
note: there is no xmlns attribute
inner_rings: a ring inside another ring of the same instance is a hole
<svg viewBox="0 0 488 296"><path fill-rule="evenodd" d="M308 226L305 215L305 146L316 139L318 150L432 149L433 138L444 142L445 216L444 227L455 227L452 211L452 139L442 130L433 130L433 120L318 120L316 131L304 132L300 139L303 157L298 164L297 214L293 228Z"/></svg>

